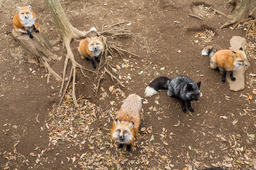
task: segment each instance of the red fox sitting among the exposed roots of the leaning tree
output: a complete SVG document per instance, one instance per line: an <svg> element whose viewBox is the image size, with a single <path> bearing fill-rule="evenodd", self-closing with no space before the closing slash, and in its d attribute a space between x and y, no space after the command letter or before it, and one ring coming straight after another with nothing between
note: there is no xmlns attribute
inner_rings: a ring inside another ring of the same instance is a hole
<svg viewBox="0 0 256 170"><path fill-rule="evenodd" d="M104 51L103 42L101 36L98 36L97 29L95 29L94 26L88 31L85 37L86 38L79 43L78 51L82 59L86 58L87 62L92 61L92 66L96 70L97 66L94 58L97 62L100 62L99 55Z"/></svg>

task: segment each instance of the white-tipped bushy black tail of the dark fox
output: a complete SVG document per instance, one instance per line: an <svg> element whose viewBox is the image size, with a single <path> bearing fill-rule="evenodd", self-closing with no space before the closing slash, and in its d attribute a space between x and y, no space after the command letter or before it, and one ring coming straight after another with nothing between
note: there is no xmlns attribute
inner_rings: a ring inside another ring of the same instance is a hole
<svg viewBox="0 0 256 170"><path fill-rule="evenodd" d="M164 77L164 76L155 78L146 87L145 97L157 94L157 91L160 89L167 89L170 81L171 81L171 79L169 79L168 77Z"/></svg>

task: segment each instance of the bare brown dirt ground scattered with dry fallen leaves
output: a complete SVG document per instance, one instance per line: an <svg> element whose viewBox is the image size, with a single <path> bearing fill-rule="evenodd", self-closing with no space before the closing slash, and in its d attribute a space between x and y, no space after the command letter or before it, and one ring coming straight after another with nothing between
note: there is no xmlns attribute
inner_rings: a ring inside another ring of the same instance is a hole
<svg viewBox="0 0 256 170"><path fill-rule="evenodd" d="M0 2L0 168L11 170L111 169L111 170L226 170L256 169L255 40L247 36L249 25L234 29L219 27L230 19L209 7L231 13L227 0L61 0L71 24L81 31L92 26L98 31L127 29L132 35L109 40L123 45L138 56L124 53L109 58L112 73L125 88L104 75L95 94L98 78L77 70L76 109L67 93L60 107L61 84L46 84L44 68L27 62L22 47L11 34L11 17L17 6L31 4L41 33L50 41L58 30L47 4L37 0ZM199 18L192 16L196 15ZM117 24L122 23L123 24ZM117 24L116 26L112 26ZM247 27L246 27L247 26ZM254 24L252 25L254 26ZM255 31L255 30L254 30ZM221 83L222 74L209 68L209 57L201 56L207 44L229 48L232 36L246 37L251 66L245 73L245 89L234 92ZM82 60L79 42L71 44L76 61ZM51 67L62 75L65 60L63 44ZM253 50L254 49L254 50ZM202 96L193 102L194 113L184 114L181 102L162 90L144 97L146 85L157 76L187 75L201 81ZM96 80L96 81L95 81ZM110 139L111 122L121 101L130 93L143 99L141 131L131 152L117 149Z"/></svg>

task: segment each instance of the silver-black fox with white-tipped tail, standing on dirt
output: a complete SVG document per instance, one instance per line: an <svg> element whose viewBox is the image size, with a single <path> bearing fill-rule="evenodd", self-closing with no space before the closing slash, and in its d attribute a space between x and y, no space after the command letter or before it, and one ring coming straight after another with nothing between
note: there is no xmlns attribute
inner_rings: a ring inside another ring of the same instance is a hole
<svg viewBox="0 0 256 170"><path fill-rule="evenodd" d="M192 79L186 76L177 76L173 79L168 77L155 78L145 90L145 97L157 94L159 89L167 89L167 95L169 97L178 97L182 101L182 111L186 113L187 103L189 111L194 112L191 107L191 101L199 100L201 82L194 82Z"/></svg>

